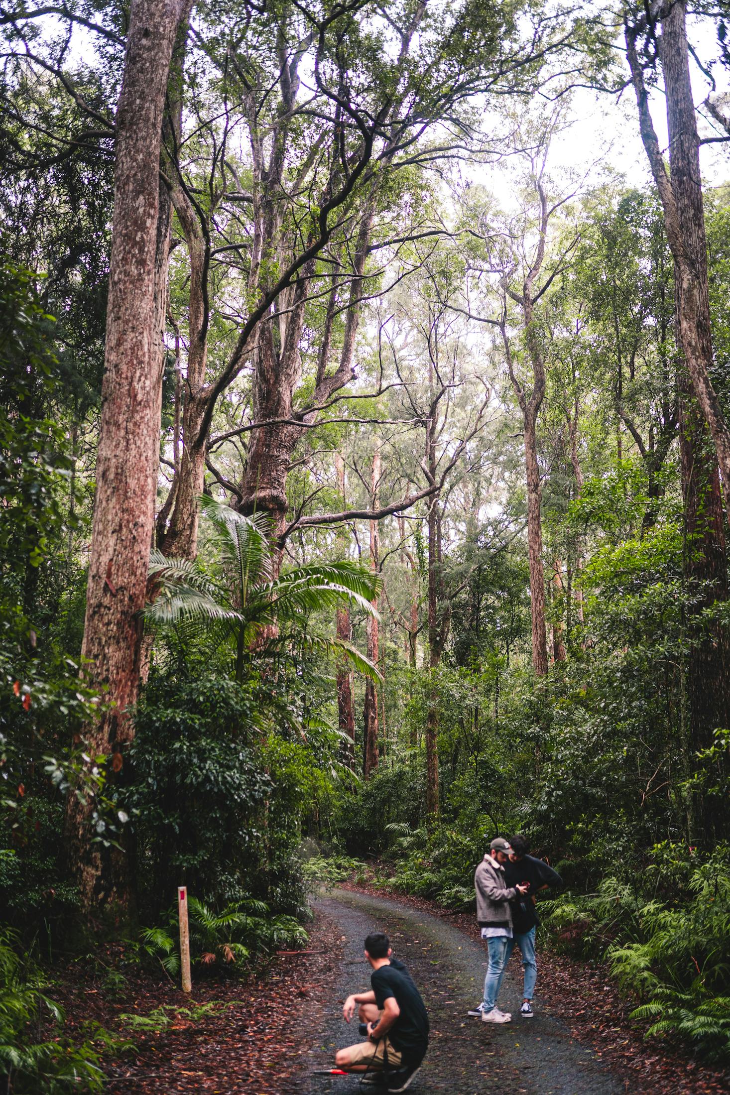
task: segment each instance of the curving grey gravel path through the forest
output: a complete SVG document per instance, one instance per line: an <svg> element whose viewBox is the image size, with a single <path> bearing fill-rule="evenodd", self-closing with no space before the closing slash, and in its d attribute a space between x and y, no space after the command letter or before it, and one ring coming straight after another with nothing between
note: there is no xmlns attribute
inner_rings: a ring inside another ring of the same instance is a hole
<svg viewBox="0 0 730 1095"><path fill-rule="evenodd" d="M417 1095L617 1095L626 1090L592 1049L580 1045L569 1029L540 1003L532 1019L519 1016L522 967L512 959L500 994L500 1005L513 1013L505 1026L470 1018L467 1010L482 999L486 946L437 917L396 901L335 890L315 901L345 937L344 954L331 1003L310 1013L312 1048L302 1054L308 1072L300 1073L302 1095L361 1088L356 1076L317 1076L311 1071L332 1064L335 1049L359 1041L357 1019L348 1027L341 1004L350 992L369 987L369 967L362 941L371 931L384 931L396 954L413 973L428 1007L431 1041L420 1073L409 1088Z"/></svg>

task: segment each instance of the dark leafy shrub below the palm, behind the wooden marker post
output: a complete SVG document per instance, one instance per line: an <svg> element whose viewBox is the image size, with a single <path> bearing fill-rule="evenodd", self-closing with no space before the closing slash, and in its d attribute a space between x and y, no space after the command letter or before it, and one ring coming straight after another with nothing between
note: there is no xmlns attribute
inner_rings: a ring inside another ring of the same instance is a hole
<svg viewBox="0 0 730 1095"><path fill-rule="evenodd" d="M255 898L302 912L298 804L262 725L259 688L255 677L205 675L148 685L125 792L148 922L181 885L216 908Z"/></svg>

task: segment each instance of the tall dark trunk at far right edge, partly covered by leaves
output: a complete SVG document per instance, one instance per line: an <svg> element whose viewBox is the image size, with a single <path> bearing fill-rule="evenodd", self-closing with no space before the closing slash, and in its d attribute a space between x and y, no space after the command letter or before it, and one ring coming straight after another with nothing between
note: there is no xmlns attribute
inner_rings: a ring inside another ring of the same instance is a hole
<svg viewBox="0 0 730 1095"><path fill-rule="evenodd" d="M695 319L695 354L709 373L712 368L712 337L709 312L707 242L703 208L699 152L694 101L690 82L685 10L674 3L662 21L661 57L667 83L667 119L670 134L671 185L682 226L686 256L692 264L696 290L686 300L687 287L675 263L677 330L690 308ZM683 339L684 343L684 339ZM686 350L685 350L686 354ZM722 500L717 456L699 406L685 377L680 380L682 491L686 531L685 578L690 588L702 591L694 604L695 618L706 608L728 597L727 555ZM726 492L730 481L726 482ZM730 725L728 639L720 625L690 621L693 643L687 662L688 742L691 757L712 744L714 730ZM703 809L700 796L692 804L693 840L711 839L715 818ZM719 827L721 831L721 826Z"/></svg>

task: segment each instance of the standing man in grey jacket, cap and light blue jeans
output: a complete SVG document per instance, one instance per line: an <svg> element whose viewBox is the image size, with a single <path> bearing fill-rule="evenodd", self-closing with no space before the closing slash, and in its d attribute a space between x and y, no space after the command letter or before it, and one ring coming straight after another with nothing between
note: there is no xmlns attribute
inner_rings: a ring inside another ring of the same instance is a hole
<svg viewBox="0 0 730 1095"><path fill-rule="evenodd" d="M482 938L487 941L489 963L484 979L484 1000L468 1014L480 1016L483 1023L510 1023L509 1012L500 1012L497 996L501 988L507 965L507 948L512 938L512 910L510 901L523 897L526 886L510 886L505 883L505 867L511 848L502 837L497 837L489 845L489 854L474 872L476 890L476 919L482 929Z"/></svg>

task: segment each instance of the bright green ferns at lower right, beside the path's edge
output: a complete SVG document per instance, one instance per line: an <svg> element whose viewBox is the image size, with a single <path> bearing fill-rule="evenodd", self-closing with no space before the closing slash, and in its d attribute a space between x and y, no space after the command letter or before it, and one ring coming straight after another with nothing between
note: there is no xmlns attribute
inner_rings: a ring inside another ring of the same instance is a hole
<svg viewBox="0 0 730 1095"><path fill-rule="evenodd" d="M651 1019L647 1036L676 1035L709 1060L730 1060L730 849L703 863L658 845L633 881L609 877L598 894L546 902L558 943L602 954Z"/></svg>

